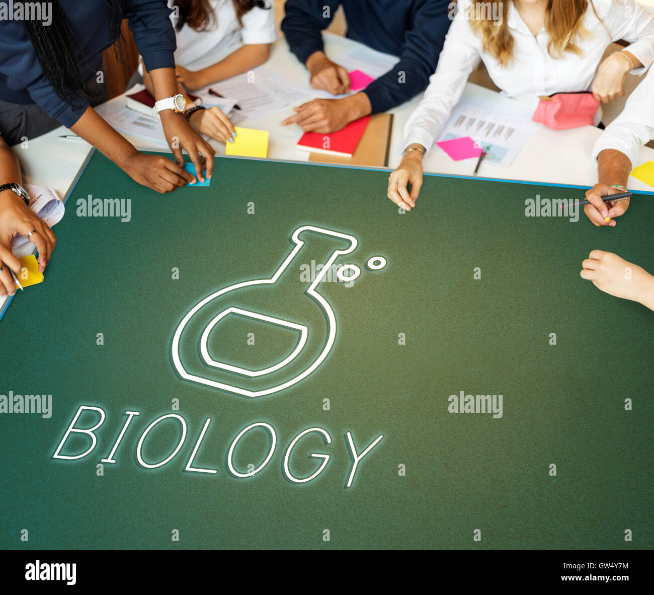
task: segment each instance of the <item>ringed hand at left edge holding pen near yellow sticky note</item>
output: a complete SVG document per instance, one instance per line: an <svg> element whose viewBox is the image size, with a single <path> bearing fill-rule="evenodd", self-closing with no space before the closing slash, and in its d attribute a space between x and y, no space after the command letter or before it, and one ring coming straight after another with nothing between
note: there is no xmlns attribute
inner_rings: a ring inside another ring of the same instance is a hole
<svg viewBox="0 0 654 595"><path fill-rule="evenodd" d="M9 267L17 275L22 265L11 252L11 240L20 234L36 245L39 251L39 271L43 272L50 262L57 238L20 196L11 190L0 192L0 266ZM29 235L31 234L31 235ZM9 270L0 272L0 297L14 295L16 284Z"/></svg>

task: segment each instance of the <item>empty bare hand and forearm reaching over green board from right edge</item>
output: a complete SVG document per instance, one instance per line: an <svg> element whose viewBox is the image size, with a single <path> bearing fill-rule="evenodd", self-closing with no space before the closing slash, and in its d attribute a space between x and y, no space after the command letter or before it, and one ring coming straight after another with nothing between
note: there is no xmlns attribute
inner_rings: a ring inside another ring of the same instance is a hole
<svg viewBox="0 0 654 595"><path fill-rule="evenodd" d="M593 281L605 293L644 305L654 300L654 277L617 254L593 250L581 265L581 278Z"/></svg>

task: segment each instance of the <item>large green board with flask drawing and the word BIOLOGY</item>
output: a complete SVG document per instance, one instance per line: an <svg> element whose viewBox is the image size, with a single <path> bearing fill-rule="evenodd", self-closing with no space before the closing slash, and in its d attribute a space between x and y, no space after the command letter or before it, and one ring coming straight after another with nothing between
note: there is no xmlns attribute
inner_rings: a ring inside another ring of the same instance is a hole
<svg viewBox="0 0 654 595"><path fill-rule="evenodd" d="M598 229L526 216L576 188L428 176L401 213L387 179L221 158L162 196L95 153L0 321L0 395L52 395L0 414L1 547L651 547L654 314L579 277L654 270L651 196Z"/></svg>

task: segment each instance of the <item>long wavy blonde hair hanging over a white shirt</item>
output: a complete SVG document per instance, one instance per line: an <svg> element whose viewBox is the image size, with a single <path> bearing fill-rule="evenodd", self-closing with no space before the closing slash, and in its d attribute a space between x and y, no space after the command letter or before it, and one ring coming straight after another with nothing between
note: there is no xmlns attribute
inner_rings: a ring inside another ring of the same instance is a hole
<svg viewBox="0 0 654 595"><path fill-rule="evenodd" d="M506 66L514 58L513 35L504 18L508 14L509 0L492 0L485 4L492 5L492 10L483 11L483 15L478 13L470 26L481 37L483 50ZM547 1L545 30L549 34L547 52L552 58L560 58L563 52L581 55L575 40L588 35L583 27L583 17L589 5L595 12L593 0ZM485 18L479 18L480 16Z"/></svg>

